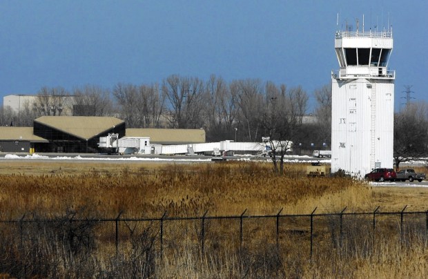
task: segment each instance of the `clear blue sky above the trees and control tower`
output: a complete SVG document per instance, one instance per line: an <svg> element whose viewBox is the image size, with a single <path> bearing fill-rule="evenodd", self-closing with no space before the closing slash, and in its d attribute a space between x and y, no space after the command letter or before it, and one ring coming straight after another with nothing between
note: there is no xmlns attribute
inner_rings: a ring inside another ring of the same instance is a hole
<svg viewBox="0 0 428 279"><path fill-rule="evenodd" d="M0 1L0 102L42 86L259 78L313 90L338 68L336 19L392 25L396 108L426 100L428 1ZM311 97L311 106L313 98Z"/></svg>

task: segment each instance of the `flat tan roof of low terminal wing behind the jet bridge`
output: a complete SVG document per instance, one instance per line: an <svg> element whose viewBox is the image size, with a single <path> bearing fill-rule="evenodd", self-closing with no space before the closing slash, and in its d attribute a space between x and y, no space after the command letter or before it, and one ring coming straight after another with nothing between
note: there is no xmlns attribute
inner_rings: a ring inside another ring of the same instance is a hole
<svg viewBox="0 0 428 279"><path fill-rule="evenodd" d="M126 137L150 137L152 144L193 144L205 142L204 129L127 128Z"/></svg>

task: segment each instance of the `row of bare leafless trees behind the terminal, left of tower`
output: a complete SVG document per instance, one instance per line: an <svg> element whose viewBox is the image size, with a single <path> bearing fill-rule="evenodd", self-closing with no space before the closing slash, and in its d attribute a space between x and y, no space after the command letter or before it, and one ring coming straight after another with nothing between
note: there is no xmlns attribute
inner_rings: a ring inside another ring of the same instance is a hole
<svg viewBox="0 0 428 279"><path fill-rule="evenodd" d="M315 131L318 125L304 118L309 95L301 86L289 88L260 79L227 82L215 75L206 81L170 75L160 84L87 85L71 91L43 87L37 92L37 101L23 104L19 112L1 108L0 125L32 126L37 117L66 115L66 109L71 108L68 115L114 116L124 119L128 128L203 128L208 142L256 142L269 136L273 124L290 120L288 125L292 124L294 132L286 140L310 145L309 133L304 131L309 128L314 144L329 144L331 88L315 90L315 96L317 117L313 119L319 119L327 131Z"/></svg>

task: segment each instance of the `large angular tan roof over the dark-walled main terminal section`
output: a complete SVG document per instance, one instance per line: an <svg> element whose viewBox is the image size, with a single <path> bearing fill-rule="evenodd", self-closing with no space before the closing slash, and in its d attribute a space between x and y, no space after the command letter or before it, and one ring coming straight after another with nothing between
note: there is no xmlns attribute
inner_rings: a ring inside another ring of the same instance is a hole
<svg viewBox="0 0 428 279"><path fill-rule="evenodd" d="M124 120L101 116L42 116L35 119L35 122L89 140L114 126L123 124Z"/></svg>

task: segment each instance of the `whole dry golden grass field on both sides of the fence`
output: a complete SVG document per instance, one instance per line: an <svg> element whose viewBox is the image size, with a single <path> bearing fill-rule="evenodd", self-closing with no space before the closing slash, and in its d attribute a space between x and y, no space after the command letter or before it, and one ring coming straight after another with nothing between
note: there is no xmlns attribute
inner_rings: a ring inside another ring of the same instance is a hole
<svg viewBox="0 0 428 279"><path fill-rule="evenodd" d="M278 176L271 164L254 162L0 162L0 217L58 218L71 212L80 218L115 218L122 212L122 218L159 218L167 212L171 218L202 216L206 211L209 216L240 215L245 209L247 215L275 215L280 209L282 214L309 214L315 207L317 213L336 213L345 207L347 212L372 212L377 206L379 211L400 211L406 205L407 211L428 210L427 188L372 187L347 177L306 177L305 168L287 164L285 174ZM200 224L180 223L165 228L168 251L162 256L158 232L153 236L149 229L135 230L126 223L132 233L115 258L113 229L73 228L71 244L66 245L64 231L55 229L49 237L31 234L49 231L44 223L43 229L28 232L28 238L22 231L21 238L14 238L10 226L3 224L0 254L8 260L0 260L0 273L59 278L412 278L425 276L428 268L427 238L420 232L424 226L415 222L411 226L417 233L409 229L403 242L393 232L396 220L379 220L383 229L378 229L375 242L367 231L371 221L348 218L343 227L347 238L338 240L337 220L319 218L312 262L307 220L282 225L281 249L275 245L273 222L246 222L250 231L243 249L232 239L235 223L211 221L204 253L198 244ZM134 230L138 242L133 241ZM89 236L81 231L104 240L89 245ZM55 241L54 249L48 243L58 235L63 240ZM85 247L92 247L90 251L70 248L81 239Z"/></svg>

